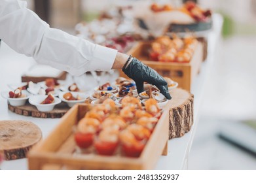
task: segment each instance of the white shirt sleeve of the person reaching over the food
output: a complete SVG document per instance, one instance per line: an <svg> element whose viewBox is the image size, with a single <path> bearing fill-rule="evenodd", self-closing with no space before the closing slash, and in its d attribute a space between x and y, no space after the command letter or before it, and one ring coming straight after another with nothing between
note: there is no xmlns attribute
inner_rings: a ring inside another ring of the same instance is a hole
<svg viewBox="0 0 256 183"><path fill-rule="evenodd" d="M50 28L25 1L0 0L0 39L16 52L72 75L109 71L117 56L117 50Z"/></svg>

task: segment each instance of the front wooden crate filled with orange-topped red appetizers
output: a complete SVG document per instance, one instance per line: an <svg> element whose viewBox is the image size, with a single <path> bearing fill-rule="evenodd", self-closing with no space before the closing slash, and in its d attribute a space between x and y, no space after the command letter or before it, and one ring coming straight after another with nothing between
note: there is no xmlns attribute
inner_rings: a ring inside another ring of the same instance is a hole
<svg viewBox="0 0 256 183"><path fill-rule="evenodd" d="M169 114L151 100L145 108L134 97L124 97L122 107L111 99L76 105L29 152L29 169L153 169L167 153Z"/></svg>

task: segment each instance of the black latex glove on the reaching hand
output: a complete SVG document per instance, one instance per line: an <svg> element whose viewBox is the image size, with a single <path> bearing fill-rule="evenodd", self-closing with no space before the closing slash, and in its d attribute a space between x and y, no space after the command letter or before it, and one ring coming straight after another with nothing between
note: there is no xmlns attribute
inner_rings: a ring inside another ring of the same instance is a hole
<svg viewBox="0 0 256 183"><path fill-rule="evenodd" d="M151 69L138 59L134 58L125 69L122 69L122 71L136 82L137 93L143 92L143 84L144 82L148 82L149 84L155 85L166 99L172 99L168 92L166 80L156 73L154 69Z"/></svg>

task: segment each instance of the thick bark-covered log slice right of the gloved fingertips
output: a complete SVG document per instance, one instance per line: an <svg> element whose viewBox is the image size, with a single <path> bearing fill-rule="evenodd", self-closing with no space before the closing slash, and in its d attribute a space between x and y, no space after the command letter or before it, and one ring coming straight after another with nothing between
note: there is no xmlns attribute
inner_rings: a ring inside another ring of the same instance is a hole
<svg viewBox="0 0 256 183"><path fill-rule="evenodd" d="M170 92L169 139L182 137L191 130L194 118L194 95L182 89Z"/></svg>

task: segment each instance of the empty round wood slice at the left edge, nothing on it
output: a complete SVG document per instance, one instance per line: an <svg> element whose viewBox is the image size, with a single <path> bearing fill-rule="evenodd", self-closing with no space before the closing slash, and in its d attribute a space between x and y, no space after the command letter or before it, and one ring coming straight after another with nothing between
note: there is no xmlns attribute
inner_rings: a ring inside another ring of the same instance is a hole
<svg viewBox="0 0 256 183"><path fill-rule="evenodd" d="M41 139L41 129L32 122L0 121L0 153L5 160L26 158L29 149Z"/></svg>

